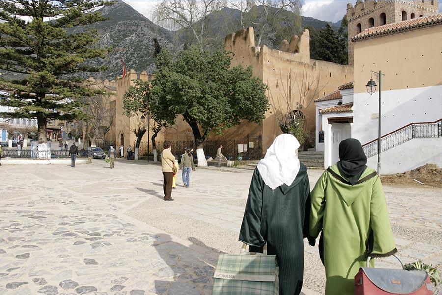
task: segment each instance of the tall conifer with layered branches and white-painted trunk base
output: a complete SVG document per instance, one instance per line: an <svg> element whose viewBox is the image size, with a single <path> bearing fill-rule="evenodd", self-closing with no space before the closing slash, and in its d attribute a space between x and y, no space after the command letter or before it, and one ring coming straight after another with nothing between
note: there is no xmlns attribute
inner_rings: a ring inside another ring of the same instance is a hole
<svg viewBox="0 0 442 295"><path fill-rule="evenodd" d="M106 50L94 47L96 31L68 33L67 29L104 20L93 9L105 1L0 1L0 71L18 74L18 80L0 80L12 90L1 104L15 107L2 113L9 118L37 118L39 150L46 150L49 119L83 118L78 98L100 92L72 78L78 72L97 72L85 64L104 58ZM71 78L69 78L71 77Z"/></svg>

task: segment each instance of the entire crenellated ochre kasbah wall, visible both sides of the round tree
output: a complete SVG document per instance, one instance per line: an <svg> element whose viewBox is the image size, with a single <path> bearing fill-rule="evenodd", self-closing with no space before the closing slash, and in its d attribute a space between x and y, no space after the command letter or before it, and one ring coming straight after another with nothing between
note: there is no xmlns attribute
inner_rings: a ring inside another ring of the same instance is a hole
<svg viewBox="0 0 442 295"><path fill-rule="evenodd" d="M263 153L271 145L275 137L281 134L281 130L275 119L275 108L289 109L284 99L284 88L287 90L287 80L292 80L292 110L296 109L297 102L302 96L303 113L307 116L307 126L314 132L315 129L315 106L313 100L334 91L338 86L353 81L353 67L339 65L331 62L310 59L309 32L305 30L298 37L294 36L290 42L284 41L281 50L268 48L266 45L255 46L253 28L242 29L225 37L225 50L233 52L232 66L251 66L253 75L263 80L268 85L267 96L272 107L265 114L262 124L242 122L240 125L224 131L222 136L211 136L216 140L222 137L225 140L244 139L248 134L263 136ZM304 76L304 78L303 78ZM131 80L137 79L137 73L129 71L125 78L118 77L116 80L116 144L120 144L120 134L124 134L124 146L136 141L135 134L131 131L136 120L127 118L123 113L122 97L130 85ZM147 79L147 75L146 78ZM281 81L283 80L283 81ZM304 83L302 82L304 81ZM299 85L299 86L298 86ZM302 86L304 85L304 86ZM307 89L300 91L301 87ZM310 88L310 89L308 89ZM129 126L131 128L129 129ZM189 125L178 116L175 125L158 135L157 141L190 141L193 133ZM147 142L147 133L143 137Z"/></svg>

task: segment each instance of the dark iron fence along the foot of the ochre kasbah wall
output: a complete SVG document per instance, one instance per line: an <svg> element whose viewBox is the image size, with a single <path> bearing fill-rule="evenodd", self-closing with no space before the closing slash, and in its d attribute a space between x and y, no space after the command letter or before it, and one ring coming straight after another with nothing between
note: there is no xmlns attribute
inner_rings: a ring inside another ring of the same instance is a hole
<svg viewBox="0 0 442 295"><path fill-rule="evenodd" d="M196 155L196 145L194 141L171 141L171 144L171 152L175 156L183 154L186 148L192 148ZM243 139L234 140L206 140L203 143L204 154L206 157L210 156L215 159L220 145L222 145L222 154L230 160L237 160L239 156L243 157L244 160L260 160L262 157L261 135L248 135ZM239 145L242 146L242 151ZM163 151L163 142L157 141L156 147L158 154L160 154ZM147 154L147 142L141 142L139 146L139 154ZM152 143L150 143L150 154L152 155Z"/></svg>

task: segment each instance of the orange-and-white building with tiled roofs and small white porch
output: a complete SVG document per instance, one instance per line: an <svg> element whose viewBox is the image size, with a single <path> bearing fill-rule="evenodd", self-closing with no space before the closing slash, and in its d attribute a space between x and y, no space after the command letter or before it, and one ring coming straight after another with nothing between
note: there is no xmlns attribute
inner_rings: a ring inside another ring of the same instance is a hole
<svg viewBox="0 0 442 295"><path fill-rule="evenodd" d="M427 163L442 167L442 14L373 27L353 41L354 83L315 101L316 149L324 151L324 168L339 161L339 143L352 137L376 169L379 89L370 95L365 87L370 78L379 85L372 70L385 73L381 174Z"/></svg>

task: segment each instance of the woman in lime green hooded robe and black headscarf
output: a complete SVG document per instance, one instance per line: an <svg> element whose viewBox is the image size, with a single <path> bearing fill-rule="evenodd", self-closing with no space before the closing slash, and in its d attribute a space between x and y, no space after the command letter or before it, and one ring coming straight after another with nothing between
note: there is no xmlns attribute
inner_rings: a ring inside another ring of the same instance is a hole
<svg viewBox="0 0 442 295"><path fill-rule="evenodd" d="M339 144L340 161L321 175L311 192L310 235L319 238L325 294L355 294L354 277L367 255L397 252L381 180L367 167L357 139ZM370 261L374 267L373 260Z"/></svg>

